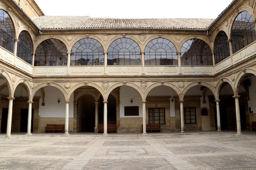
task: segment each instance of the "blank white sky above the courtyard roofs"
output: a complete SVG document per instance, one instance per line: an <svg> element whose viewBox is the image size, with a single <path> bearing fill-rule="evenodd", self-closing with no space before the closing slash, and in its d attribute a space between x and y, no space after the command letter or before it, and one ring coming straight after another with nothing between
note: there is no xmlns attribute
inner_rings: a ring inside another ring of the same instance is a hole
<svg viewBox="0 0 256 170"><path fill-rule="evenodd" d="M35 0L45 15L101 18L212 18L233 0Z"/></svg>

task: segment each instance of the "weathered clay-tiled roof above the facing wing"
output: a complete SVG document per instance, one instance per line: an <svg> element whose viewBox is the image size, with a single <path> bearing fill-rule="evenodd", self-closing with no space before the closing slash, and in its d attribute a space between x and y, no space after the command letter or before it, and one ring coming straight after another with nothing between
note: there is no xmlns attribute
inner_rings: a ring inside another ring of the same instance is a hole
<svg viewBox="0 0 256 170"><path fill-rule="evenodd" d="M41 29L207 29L214 19L115 19L73 16L41 16L32 19Z"/></svg>

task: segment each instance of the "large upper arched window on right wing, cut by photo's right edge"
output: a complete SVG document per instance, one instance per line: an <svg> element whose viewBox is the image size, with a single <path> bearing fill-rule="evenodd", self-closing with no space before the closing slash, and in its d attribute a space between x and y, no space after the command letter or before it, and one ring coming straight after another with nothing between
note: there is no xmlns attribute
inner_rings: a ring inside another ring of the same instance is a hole
<svg viewBox="0 0 256 170"><path fill-rule="evenodd" d="M231 34L233 53L256 40L255 24L248 11L242 11L234 20Z"/></svg>

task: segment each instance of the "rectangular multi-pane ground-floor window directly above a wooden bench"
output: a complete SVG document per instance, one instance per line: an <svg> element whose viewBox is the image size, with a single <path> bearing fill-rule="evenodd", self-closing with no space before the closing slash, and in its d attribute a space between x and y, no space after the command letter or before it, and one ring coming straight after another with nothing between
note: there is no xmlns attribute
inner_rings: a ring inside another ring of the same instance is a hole
<svg viewBox="0 0 256 170"><path fill-rule="evenodd" d="M165 124L165 109L164 108L148 108L149 124Z"/></svg>

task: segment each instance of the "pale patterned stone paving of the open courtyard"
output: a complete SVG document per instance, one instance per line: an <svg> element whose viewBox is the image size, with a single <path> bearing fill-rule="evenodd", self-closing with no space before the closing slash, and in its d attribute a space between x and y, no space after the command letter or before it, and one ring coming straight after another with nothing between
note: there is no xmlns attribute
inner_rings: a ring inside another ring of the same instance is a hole
<svg viewBox="0 0 256 170"><path fill-rule="evenodd" d="M0 170L255 170L256 132L0 134Z"/></svg>

